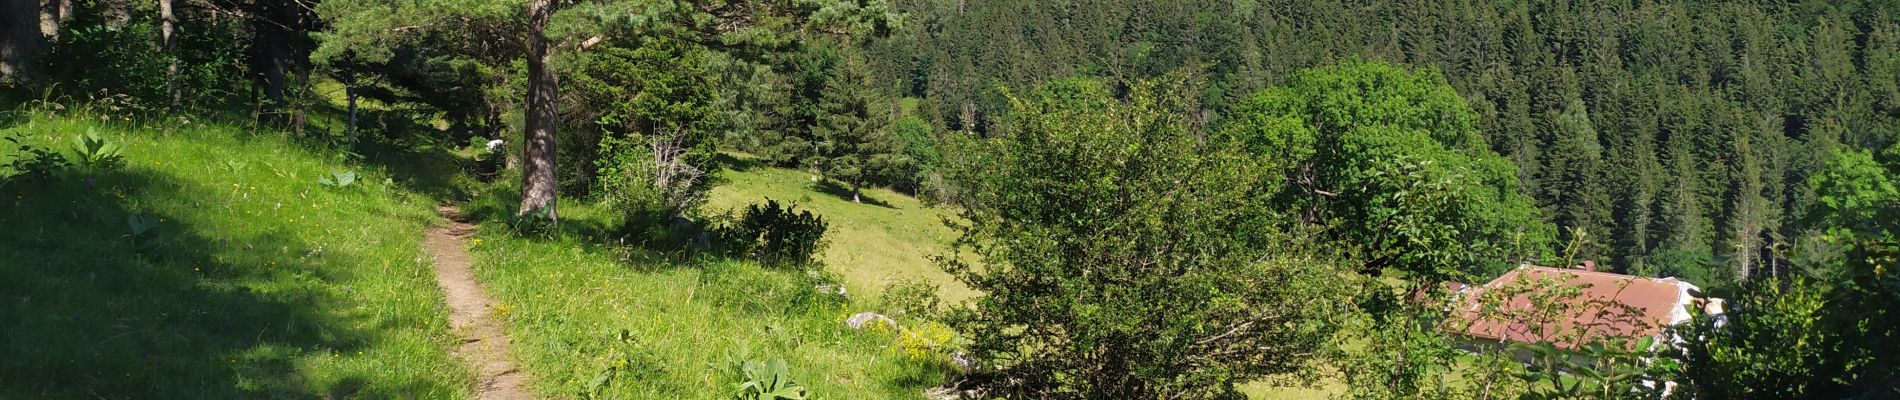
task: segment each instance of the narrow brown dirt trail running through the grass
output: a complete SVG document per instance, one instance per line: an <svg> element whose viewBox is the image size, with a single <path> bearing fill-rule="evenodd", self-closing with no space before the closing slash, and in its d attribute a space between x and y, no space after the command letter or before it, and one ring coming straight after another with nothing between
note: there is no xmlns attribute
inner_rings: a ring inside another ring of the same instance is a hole
<svg viewBox="0 0 1900 400"><path fill-rule="evenodd" d="M431 226L422 246L435 258L435 284L443 286L450 309L448 326L462 336L454 353L475 370L475 398L532 400L528 375L507 356L502 322L490 318L494 301L483 294L475 269L469 267L467 237L475 235L475 226L462 222L462 212L452 205L435 207L435 212L448 222Z"/></svg>

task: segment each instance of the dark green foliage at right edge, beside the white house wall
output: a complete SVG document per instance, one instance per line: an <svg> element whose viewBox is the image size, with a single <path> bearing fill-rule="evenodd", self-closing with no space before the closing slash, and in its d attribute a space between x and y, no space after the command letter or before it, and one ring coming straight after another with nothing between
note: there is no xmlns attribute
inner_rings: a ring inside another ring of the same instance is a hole
<svg viewBox="0 0 1900 400"><path fill-rule="evenodd" d="M1809 180L1809 218L1841 260L1737 290L1725 317L1702 317L1689 383L1725 398L1887 396L1900 385L1900 197L1894 152L1839 152Z"/></svg>

